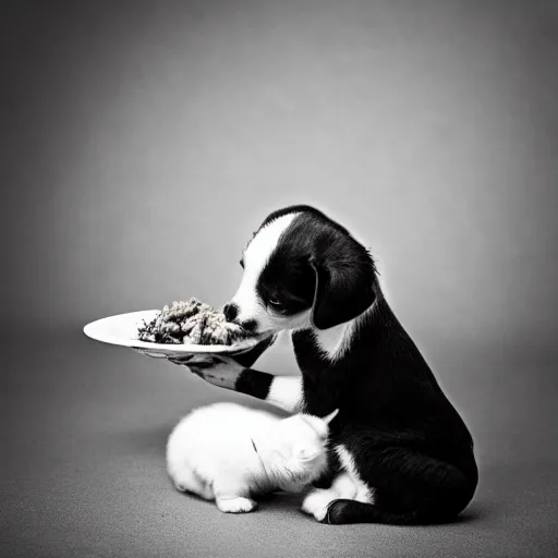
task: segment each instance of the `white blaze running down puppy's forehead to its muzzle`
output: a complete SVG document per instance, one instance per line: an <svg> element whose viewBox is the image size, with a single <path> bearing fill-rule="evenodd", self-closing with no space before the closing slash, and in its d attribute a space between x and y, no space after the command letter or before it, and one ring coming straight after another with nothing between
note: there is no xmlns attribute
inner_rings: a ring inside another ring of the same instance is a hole
<svg viewBox="0 0 558 558"><path fill-rule="evenodd" d="M299 214L288 214L268 222L252 239L244 251L244 275L232 301L239 306L239 319L256 318L262 314L256 284L264 267L279 243L281 234Z"/></svg>

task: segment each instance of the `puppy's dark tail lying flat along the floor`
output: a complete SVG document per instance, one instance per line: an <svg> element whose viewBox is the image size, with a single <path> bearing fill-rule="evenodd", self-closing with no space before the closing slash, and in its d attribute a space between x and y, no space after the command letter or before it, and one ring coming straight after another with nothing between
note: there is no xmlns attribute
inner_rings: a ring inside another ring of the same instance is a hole
<svg viewBox="0 0 558 558"><path fill-rule="evenodd" d="M416 525L439 523L452 518L435 517L424 510L410 510L405 512L387 511L374 504L356 500L335 500L329 506L323 523L341 525L348 523L384 523L390 525Z"/></svg>

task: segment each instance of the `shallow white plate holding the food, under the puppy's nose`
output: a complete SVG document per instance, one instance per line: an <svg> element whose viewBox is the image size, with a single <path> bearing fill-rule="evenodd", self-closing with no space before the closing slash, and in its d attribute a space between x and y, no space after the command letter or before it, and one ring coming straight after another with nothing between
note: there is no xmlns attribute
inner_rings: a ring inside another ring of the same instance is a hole
<svg viewBox="0 0 558 558"><path fill-rule="evenodd" d="M169 344L140 341L137 328L143 326L144 322L146 324L151 322L159 312L158 310L144 310L109 316L87 324L83 328L83 332L96 341L129 347L156 359L196 353L240 353L247 351L266 337L256 336L251 339L242 339L233 344Z"/></svg>

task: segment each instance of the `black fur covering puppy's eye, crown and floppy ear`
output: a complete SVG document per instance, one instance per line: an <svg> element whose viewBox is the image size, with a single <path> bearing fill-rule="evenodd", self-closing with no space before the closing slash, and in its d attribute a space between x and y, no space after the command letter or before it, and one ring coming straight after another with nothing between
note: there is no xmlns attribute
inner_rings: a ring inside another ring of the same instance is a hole
<svg viewBox="0 0 558 558"><path fill-rule="evenodd" d="M286 316L314 306L319 328L364 312L375 298L376 274L366 248L347 229L308 206L276 211L264 225L290 213L300 215L282 233L258 278L259 299Z"/></svg>

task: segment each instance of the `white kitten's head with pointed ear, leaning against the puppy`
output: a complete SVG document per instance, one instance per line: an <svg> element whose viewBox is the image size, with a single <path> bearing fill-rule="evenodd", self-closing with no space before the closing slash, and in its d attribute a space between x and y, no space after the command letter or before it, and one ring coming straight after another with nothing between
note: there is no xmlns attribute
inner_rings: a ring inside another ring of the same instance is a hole
<svg viewBox="0 0 558 558"><path fill-rule="evenodd" d="M274 471L289 482L316 480L327 466L329 423L338 412L336 409L323 418L301 413L277 423L269 439Z"/></svg>

